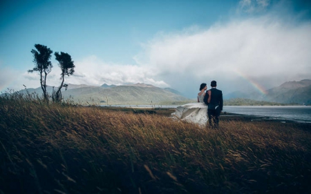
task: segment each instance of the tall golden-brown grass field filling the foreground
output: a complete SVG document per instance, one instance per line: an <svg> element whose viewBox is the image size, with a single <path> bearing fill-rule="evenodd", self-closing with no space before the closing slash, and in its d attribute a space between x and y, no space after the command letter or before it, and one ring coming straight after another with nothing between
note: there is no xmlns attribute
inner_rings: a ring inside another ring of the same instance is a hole
<svg viewBox="0 0 311 194"><path fill-rule="evenodd" d="M0 193L310 193L308 126L0 98Z"/></svg>

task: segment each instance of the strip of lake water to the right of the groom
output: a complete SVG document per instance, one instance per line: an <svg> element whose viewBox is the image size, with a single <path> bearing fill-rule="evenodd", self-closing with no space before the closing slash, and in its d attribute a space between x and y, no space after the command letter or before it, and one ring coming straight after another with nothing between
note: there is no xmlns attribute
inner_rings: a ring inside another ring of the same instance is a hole
<svg viewBox="0 0 311 194"><path fill-rule="evenodd" d="M311 122L311 106L224 106L223 112Z"/></svg>

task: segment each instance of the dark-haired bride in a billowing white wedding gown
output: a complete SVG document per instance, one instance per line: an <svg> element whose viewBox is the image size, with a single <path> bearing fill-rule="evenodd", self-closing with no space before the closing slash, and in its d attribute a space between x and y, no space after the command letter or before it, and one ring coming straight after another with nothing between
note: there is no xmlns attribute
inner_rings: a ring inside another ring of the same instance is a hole
<svg viewBox="0 0 311 194"><path fill-rule="evenodd" d="M185 122L191 122L194 124L200 124L205 126L208 121L207 117L207 105L203 99L205 97L205 90L207 90L207 84L202 83L200 85L200 93L198 93L198 103L188 103L176 108L176 112L171 116L180 119Z"/></svg>

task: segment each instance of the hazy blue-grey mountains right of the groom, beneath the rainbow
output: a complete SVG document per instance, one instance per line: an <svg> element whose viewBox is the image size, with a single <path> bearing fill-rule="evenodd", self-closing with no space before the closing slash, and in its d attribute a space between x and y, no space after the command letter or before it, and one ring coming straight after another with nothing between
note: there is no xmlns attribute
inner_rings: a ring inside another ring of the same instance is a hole
<svg viewBox="0 0 311 194"><path fill-rule="evenodd" d="M283 104L305 104L311 105L311 79L301 81L287 81L280 86L265 90L266 95L249 91L236 91L224 96L224 99L254 99L257 101L270 101Z"/></svg>

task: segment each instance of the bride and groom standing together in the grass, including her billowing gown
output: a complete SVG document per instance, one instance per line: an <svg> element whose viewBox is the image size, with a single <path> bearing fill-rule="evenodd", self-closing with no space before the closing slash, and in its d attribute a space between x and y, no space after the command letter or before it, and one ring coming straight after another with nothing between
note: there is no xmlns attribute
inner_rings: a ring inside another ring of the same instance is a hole
<svg viewBox="0 0 311 194"><path fill-rule="evenodd" d="M200 124L206 126L207 121L211 125L213 118L214 124L218 126L220 111L223 110L223 93L216 89L216 81L211 81L211 90L207 90L207 84L201 84L200 93L198 93L198 102L189 103L176 108L176 112L171 116L182 121ZM209 105L204 103L204 98L209 99ZM209 98L210 97L210 98ZM216 108L216 109L215 109ZM209 118L207 117L209 115Z"/></svg>

